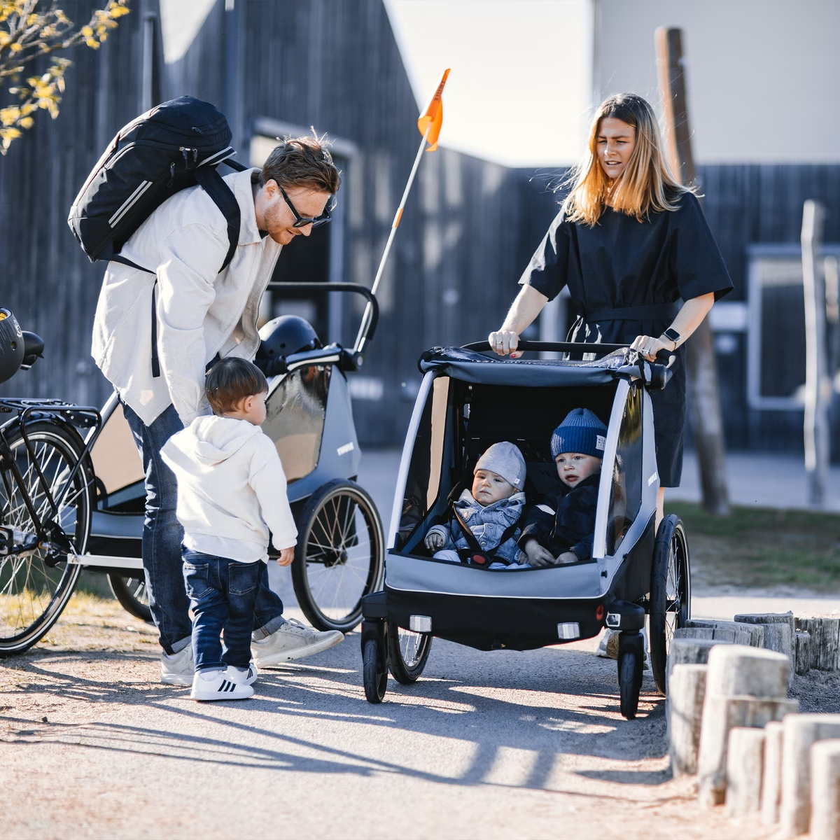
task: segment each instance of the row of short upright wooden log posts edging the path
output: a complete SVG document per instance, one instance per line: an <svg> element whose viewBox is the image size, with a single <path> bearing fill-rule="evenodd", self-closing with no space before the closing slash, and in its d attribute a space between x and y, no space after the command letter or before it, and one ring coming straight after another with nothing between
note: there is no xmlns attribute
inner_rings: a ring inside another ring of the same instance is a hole
<svg viewBox="0 0 840 840"><path fill-rule="evenodd" d="M786 837L840 840L840 715L798 714L794 673L835 670L840 619L792 613L690 621L668 658L675 776L697 774L705 806L761 812ZM813 780L813 784L811 784Z"/></svg>

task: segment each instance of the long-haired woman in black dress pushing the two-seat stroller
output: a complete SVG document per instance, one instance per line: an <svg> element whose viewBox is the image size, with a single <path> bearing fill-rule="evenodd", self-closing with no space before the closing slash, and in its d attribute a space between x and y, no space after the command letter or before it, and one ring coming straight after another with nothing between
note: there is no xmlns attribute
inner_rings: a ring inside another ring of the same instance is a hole
<svg viewBox="0 0 840 840"><path fill-rule="evenodd" d="M659 470L657 525L664 488L680 486L685 427L685 350L712 304L732 289L726 265L693 192L664 160L654 111L633 93L598 108L589 154L519 283L491 348L516 358L522 330L569 287L578 315L570 341L631 344L648 360L676 351L664 391L651 394ZM676 302L685 302L677 311Z"/></svg>

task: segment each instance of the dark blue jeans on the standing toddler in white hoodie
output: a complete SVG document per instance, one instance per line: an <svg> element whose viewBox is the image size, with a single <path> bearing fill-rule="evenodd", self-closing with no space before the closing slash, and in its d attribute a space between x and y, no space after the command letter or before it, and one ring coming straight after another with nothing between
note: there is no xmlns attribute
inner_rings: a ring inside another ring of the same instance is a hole
<svg viewBox="0 0 840 840"><path fill-rule="evenodd" d="M192 612L192 650L196 670L247 668L251 660L254 602L263 563L183 549L186 594ZM222 631L224 645L222 653Z"/></svg>

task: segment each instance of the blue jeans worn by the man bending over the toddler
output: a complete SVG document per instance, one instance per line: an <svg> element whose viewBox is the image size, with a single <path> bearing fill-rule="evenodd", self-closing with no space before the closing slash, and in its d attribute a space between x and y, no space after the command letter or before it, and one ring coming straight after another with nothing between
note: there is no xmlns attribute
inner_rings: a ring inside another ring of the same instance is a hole
<svg viewBox="0 0 840 840"><path fill-rule="evenodd" d="M160 644L167 654L176 654L190 643L192 622L186 597L181 561L184 532L175 516L175 475L160 458L160 450L183 427L174 406L146 426L123 402L125 419L134 435L146 478L146 516L143 522L143 568L146 592ZM270 590L268 570L260 563L260 589L255 603L255 633L267 636L284 622L283 602Z"/></svg>

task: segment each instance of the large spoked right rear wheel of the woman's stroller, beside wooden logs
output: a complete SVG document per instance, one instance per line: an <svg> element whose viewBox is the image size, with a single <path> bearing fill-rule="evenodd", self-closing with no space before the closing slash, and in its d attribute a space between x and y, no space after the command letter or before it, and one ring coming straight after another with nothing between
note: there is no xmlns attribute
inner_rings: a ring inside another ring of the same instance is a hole
<svg viewBox="0 0 840 840"><path fill-rule="evenodd" d="M674 631L690 618L691 567L685 526L673 513L659 523L650 571L650 664L665 693L668 652Z"/></svg>

